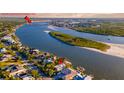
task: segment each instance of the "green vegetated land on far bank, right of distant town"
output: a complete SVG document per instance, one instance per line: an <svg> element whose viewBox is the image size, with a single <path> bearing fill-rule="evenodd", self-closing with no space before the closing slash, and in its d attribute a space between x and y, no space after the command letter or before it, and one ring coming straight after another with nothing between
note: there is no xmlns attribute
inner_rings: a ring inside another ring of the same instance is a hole
<svg viewBox="0 0 124 93"><path fill-rule="evenodd" d="M124 36L124 23L101 23L99 27L73 27L72 29L92 34Z"/></svg>

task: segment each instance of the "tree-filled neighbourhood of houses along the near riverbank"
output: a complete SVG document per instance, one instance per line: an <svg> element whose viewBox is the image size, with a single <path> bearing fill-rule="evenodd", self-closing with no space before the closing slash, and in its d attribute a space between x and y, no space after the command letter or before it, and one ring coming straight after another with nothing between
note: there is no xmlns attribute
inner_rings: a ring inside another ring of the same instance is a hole
<svg viewBox="0 0 124 93"><path fill-rule="evenodd" d="M91 80L81 66L23 45L15 31L24 22L0 22L1 80Z"/></svg>

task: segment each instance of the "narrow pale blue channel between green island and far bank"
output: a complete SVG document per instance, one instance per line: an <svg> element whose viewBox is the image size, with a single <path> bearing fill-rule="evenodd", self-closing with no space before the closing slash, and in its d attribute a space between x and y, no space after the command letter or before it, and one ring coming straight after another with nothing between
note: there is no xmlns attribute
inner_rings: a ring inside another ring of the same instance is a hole
<svg viewBox="0 0 124 93"><path fill-rule="evenodd" d="M71 34L74 36L84 37L84 38L102 41L102 42L106 42L106 43L124 44L124 37L95 35L95 34L90 34L90 33L75 32L74 30L66 29L66 28L62 28L62 27L54 27L51 29L54 31L60 31L60 32L63 32L66 34Z"/></svg>

